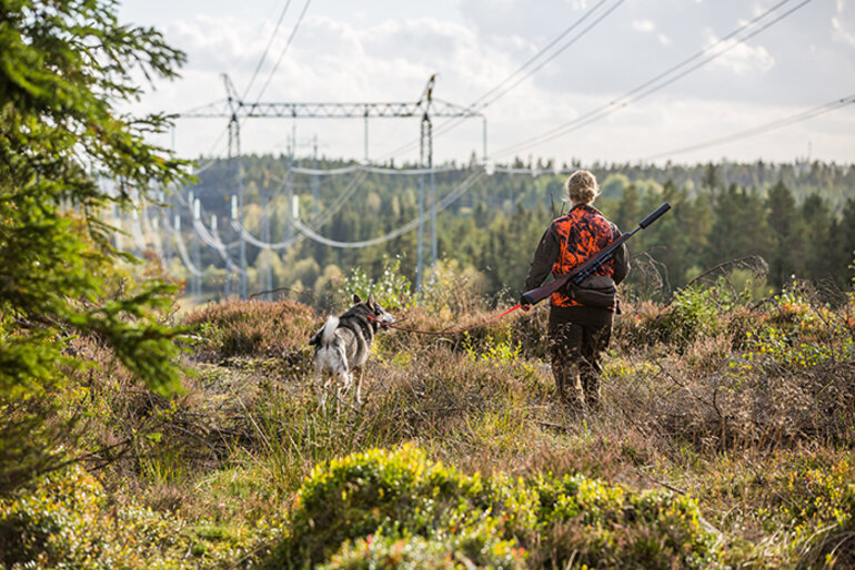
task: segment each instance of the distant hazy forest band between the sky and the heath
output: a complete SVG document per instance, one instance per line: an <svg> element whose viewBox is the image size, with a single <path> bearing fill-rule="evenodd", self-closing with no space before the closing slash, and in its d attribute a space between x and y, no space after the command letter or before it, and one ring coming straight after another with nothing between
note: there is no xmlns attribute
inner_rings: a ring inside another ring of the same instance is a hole
<svg viewBox="0 0 855 570"><path fill-rule="evenodd" d="M298 236L290 224L293 199L301 222L323 237L355 242L383 236L411 222L419 212L420 176L351 171L340 174L294 172L288 156L244 156L244 227L265 242ZM355 163L311 159L294 161L318 172ZM386 166L390 166L389 164ZM506 167L520 172L482 173L475 165L446 165L435 173L437 201L462 192L436 215L437 258L451 271L480 281L489 296L516 297L532 253L550 221L566 208L566 172L594 172L602 195L594 204L623 231L662 202L673 211L630 242L638 271L627 288L638 295L667 298L707 268L730 259L760 256L767 263L763 291L781 289L793 277L833 282L847 288L855 257L855 167L804 162L710 163L666 166L635 164L564 164L556 174L551 163L516 160ZM412 165L399 165L399 169ZM523 172L524 171L524 172ZM218 218L223 242L237 241L229 226L230 196L235 193L234 164L215 160L199 174L192 190L201 201L205 223ZM480 174L480 176L479 176ZM430 205L425 176L425 211ZM178 206L177 206L178 207ZM191 212L185 217L190 237ZM262 216L262 212L268 216ZM424 224L424 264L431 264L430 217ZM400 272L412 282L416 268L416 230L379 245L336 248L302 238L293 246L264 252L248 245L250 293L269 288L310 291L315 296L340 286L354 269L380 278L390 259L400 257ZM237 261L237 248L229 251ZM224 291L225 269L214 250L202 248L207 267L202 295ZM179 258L172 272L185 275ZM219 268L217 268L219 267ZM655 275L653 275L655 274Z"/></svg>

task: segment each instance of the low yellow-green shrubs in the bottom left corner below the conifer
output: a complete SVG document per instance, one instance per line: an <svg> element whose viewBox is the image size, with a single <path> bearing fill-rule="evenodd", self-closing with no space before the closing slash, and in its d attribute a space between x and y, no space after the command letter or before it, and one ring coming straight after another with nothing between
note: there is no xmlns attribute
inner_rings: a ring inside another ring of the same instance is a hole
<svg viewBox="0 0 855 570"><path fill-rule="evenodd" d="M210 568L278 532L264 526L217 532L210 522L119 503L79 466L0 499L0 566L10 569Z"/></svg>

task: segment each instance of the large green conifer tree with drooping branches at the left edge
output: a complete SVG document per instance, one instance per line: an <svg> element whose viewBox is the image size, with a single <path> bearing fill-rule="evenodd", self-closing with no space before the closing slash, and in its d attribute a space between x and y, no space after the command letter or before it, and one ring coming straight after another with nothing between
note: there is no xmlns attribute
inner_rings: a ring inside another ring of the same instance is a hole
<svg viewBox="0 0 855 570"><path fill-rule="evenodd" d="M107 296L130 258L100 216L182 179L182 163L143 139L168 118L119 106L141 93L135 70L172 78L184 57L115 11L111 0L0 0L0 492L58 460L44 426L61 370L83 364L74 335L100 339L149 387L179 387L179 330L155 315L170 289Z"/></svg>

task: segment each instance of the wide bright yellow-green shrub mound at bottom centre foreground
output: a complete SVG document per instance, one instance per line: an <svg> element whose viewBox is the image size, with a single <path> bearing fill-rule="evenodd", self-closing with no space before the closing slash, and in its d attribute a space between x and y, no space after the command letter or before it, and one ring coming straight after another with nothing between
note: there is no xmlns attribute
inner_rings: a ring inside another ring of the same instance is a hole
<svg viewBox="0 0 855 570"><path fill-rule="evenodd" d="M691 499L631 493L583 476L465 476L408 445L319 466L298 492L290 535L268 563L369 568L360 566L360 553L386 563L390 552L396 561L385 568L419 561L453 568L462 557L495 568L514 568L525 557L546 568L718 561L716 537L702 527Z"/></svg>

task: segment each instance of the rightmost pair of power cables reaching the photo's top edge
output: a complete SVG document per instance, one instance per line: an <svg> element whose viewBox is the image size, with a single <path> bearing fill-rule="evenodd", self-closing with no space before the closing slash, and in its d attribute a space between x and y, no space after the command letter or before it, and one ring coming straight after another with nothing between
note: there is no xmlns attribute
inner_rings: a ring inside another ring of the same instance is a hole
<svg viewBox="0 0 855 570"><path fill-rule="evenodd" d="M701 51L698 51L697 53L691 55L690 58L683 60L682 62L677 63L676 65L673 65L673 67L668 68L667 70L665 70L664 72L657 74L653 79L647 80L647 81L643 82L642 84L633 88L632 90L627 91L626 93L624 93L623 95L618 96L617 99L615 99L615 100L613 100L613 101L611 101L611 102L608 102L608 103L606 103L604 105L601 105L601 106L594 109L593 111L590 111L590 112L585 113L582 116L579 116L579 118L576 118L576 119L574 119L572 121L569 121L569 122L566 122L566 123L564 123L562 125L559 125L559 126L555 126L555 128L553 128L553 129L551 129L549 131L545 131L544 133L541 133L541 134L539 134L536 136L533 136L531 139L527 139L525 141L512 144L510 146L506 146L506 147L497 151L495 153L495 155L496 156L504 156L504 155L507 155L507 154L512 154L514 152L519 152L522 149L527 149L527 147L531 147L531 146L535 146L535 145L542 144L544 142L551 141L551 140L556 139L559 136L569 134L569 133L571 133L573 131L576 131L576 130L581 129L582 126L585 126L587 124L596 122L596 121L598 121L598 120L601 120L601 119L603 119L603 118L614 113L615 111L617 111L620 109L626 108L626 106L631 105L632 103L641 101L642 99L644 99L644 98L655 93L656 91L660 91L661 89L664 89L665 86L667 86L667 85L674 83L675 81L686 77L687 74L690 74L693 71L702 68L703 65L706 65L707 63L710 63L711 61L715 60L716 58L723 55L724 53L728 52L730 50L732 50L733 48L735 48L740 43L744 43L746 40L750 40L750 39L754 38L758 33L761 33L761 32L765 31L766 29L771 28L772 26L778 23L781 20L783 20L784 18L791 16L793 12L795 12L796 10L803 8L805 4L812 2L813 0L803 0L802 2L799 2L794 8L791 8L789 10L784 12L783 14L779 14L777 18L775 18L775 19L764 23L760 28L757 28L755 30L752 30L748 34L740 38L737 41L734 41L734 42L732 42L730 44L726 44L726 42L728 42L730 40L734 39L734 37L740 34L741 32L744 32L745 30L756 26L761 20L763 20L766 17L771 16L773 12L775 12L776 10L778 10L781 7L783 7L784 4L788 3L789 1L791 0L783 0L783 1L778 2L778 3L776 3L775 6L773 6L772 8L766 10L765 12L761 13L760 16L754 18L753 20L751 20L751 21L740 26L737 29L735 29L734 31L732 31L731 33L725 35L724 38L717 40L716 42L714 42L714 43L712 43L710 45L707 45L706 48L702 49ZM713 50L714 48L717 48L720 45L723 45L723 49L721 51L718 51L717 53L713 53L713 54L706 57L705 59L703 59L702 61L700 61L698 63L690 67L688 69L685 69L685 70L681 71L680 73L677 73L675 75L672 75L671 78L666 79L665 81L662 81L658 84L654 84L654 83L656 83L656 81L658 81L658 80L661 80L663 78L666 78L667 75L674 73L675 71L680 70L681 68L685 68L686 65L688 65L693 61L695 61L698 58L707 54L711 50ZM646 89L646 88L648 88L648 89ZM645 91L645 89L646 89L646 91ZM641 91L641 93L638 93L640 91ZM636 95L636 93L638 93L638 94Z"/></svg>

